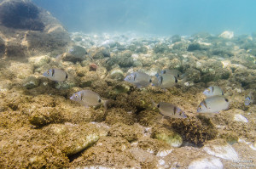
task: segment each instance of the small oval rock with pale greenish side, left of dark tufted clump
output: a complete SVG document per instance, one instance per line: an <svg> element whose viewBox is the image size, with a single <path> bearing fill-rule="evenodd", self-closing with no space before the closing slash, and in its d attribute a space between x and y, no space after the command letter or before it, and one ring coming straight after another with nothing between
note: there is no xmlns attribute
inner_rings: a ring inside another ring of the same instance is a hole
<svg viewBox="0 0 256 169"><path fill-rule="evenodd" d="M183 144L183 138L177 132L167 130L166 128L154 128L152 137L162 140L172 147L180 147Z"/></svg>

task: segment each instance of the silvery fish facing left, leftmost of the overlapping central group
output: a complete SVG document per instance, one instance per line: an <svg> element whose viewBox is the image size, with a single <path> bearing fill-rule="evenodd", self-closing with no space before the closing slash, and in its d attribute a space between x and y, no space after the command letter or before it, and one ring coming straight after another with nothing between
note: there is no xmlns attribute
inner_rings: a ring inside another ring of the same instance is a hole
<svg viewBox="0 0 256 169"><path fill-rule="evenodd" d="M137 87L148 87L148 85L152 82L151 76L147 73L143 73L140 71L135 71L128 76L125 77L126 82L130 82Z"/></svg>

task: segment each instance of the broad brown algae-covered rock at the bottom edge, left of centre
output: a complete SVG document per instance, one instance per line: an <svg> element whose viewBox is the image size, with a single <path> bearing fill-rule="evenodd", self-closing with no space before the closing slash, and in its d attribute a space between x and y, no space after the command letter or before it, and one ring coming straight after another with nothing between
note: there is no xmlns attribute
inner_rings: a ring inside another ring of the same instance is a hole
<svg viewBox="0 0 256 169"><path fill-rule="evenodd" d="M72 167L101 164L111 168L140 166L130 152L131 146L125 138L102 137L97 144L75 159Z"/></svg>

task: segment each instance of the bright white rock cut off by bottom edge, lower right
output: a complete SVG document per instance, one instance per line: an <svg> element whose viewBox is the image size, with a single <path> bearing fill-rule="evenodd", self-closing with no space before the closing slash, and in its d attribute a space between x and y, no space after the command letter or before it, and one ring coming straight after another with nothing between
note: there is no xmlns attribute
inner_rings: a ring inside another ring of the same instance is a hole
<svg viewBox="0 0 256 169"><path fill-rule="evenodd" d="M192 161L188 169L222 169L223 164L218 158L209 157Z"/></svg>

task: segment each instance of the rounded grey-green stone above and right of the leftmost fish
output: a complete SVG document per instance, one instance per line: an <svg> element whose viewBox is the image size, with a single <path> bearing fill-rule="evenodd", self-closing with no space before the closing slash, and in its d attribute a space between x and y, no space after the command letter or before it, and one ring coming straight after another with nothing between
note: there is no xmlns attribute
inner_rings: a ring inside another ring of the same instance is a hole
<svg viewBox="0 0 256 169"><path fill-rule="evenodd" d="M62 59L75 64L76 62L82 62L85 59L85 54L87 54L87 52L83 47L73 46L67 54L64 54Z"/></svg>

